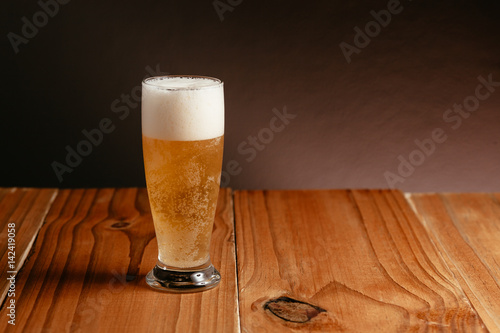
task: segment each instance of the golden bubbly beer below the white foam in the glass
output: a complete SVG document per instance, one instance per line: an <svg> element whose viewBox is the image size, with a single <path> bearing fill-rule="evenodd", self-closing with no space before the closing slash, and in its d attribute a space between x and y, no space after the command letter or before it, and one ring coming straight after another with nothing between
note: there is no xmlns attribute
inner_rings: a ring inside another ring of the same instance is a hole
<svg viewBox="0 0 500 333"><path fill-rule="evenodd" d="M142 137L159 260L180 268L209 260L224 137L167 141Z"/></svg>

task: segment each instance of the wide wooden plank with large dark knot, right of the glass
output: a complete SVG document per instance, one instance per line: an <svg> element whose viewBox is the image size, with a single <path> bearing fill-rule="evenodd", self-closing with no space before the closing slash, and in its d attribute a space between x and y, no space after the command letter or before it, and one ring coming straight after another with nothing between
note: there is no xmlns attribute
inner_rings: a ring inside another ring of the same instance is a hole
<svg viewBox="0 0 500 333"><path fill-rule="evenodd" d="M486 328L397 191L237 191L242 332Z"/></svg>

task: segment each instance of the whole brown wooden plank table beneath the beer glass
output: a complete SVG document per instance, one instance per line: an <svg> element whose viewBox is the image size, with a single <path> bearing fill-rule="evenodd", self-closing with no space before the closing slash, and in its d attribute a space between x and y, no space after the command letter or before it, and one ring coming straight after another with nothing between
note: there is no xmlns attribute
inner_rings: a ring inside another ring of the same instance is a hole
<svg viewBox="0 0 500 333"><path fill-rule="evenodd" d="M500 194L223 189L184 295L144 281L144 189L3 188L0 226L0 332L500 332Z"/></svg>

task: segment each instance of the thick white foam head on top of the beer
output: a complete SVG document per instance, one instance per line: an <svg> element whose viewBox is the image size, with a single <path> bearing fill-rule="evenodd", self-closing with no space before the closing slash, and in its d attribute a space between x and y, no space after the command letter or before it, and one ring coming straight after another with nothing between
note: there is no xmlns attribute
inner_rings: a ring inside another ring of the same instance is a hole
<svg viewBox="0 0 500 333"><path fill-rule="evenodd" d="M213 139L224 134L220 80L163 76L142 83L142 134L171 141Z"/></svg>

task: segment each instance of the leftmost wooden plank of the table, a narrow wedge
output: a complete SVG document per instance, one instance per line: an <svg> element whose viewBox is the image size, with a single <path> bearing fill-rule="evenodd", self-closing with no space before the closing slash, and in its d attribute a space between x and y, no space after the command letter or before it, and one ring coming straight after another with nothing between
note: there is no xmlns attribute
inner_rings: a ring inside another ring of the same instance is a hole
<svg viewBox="0 0 500 333"><path fill-rule="evenodd" d="M0 188L0 304L11 285L7 277L15 277L23 266L56 194L56 189Z"/></svg>

